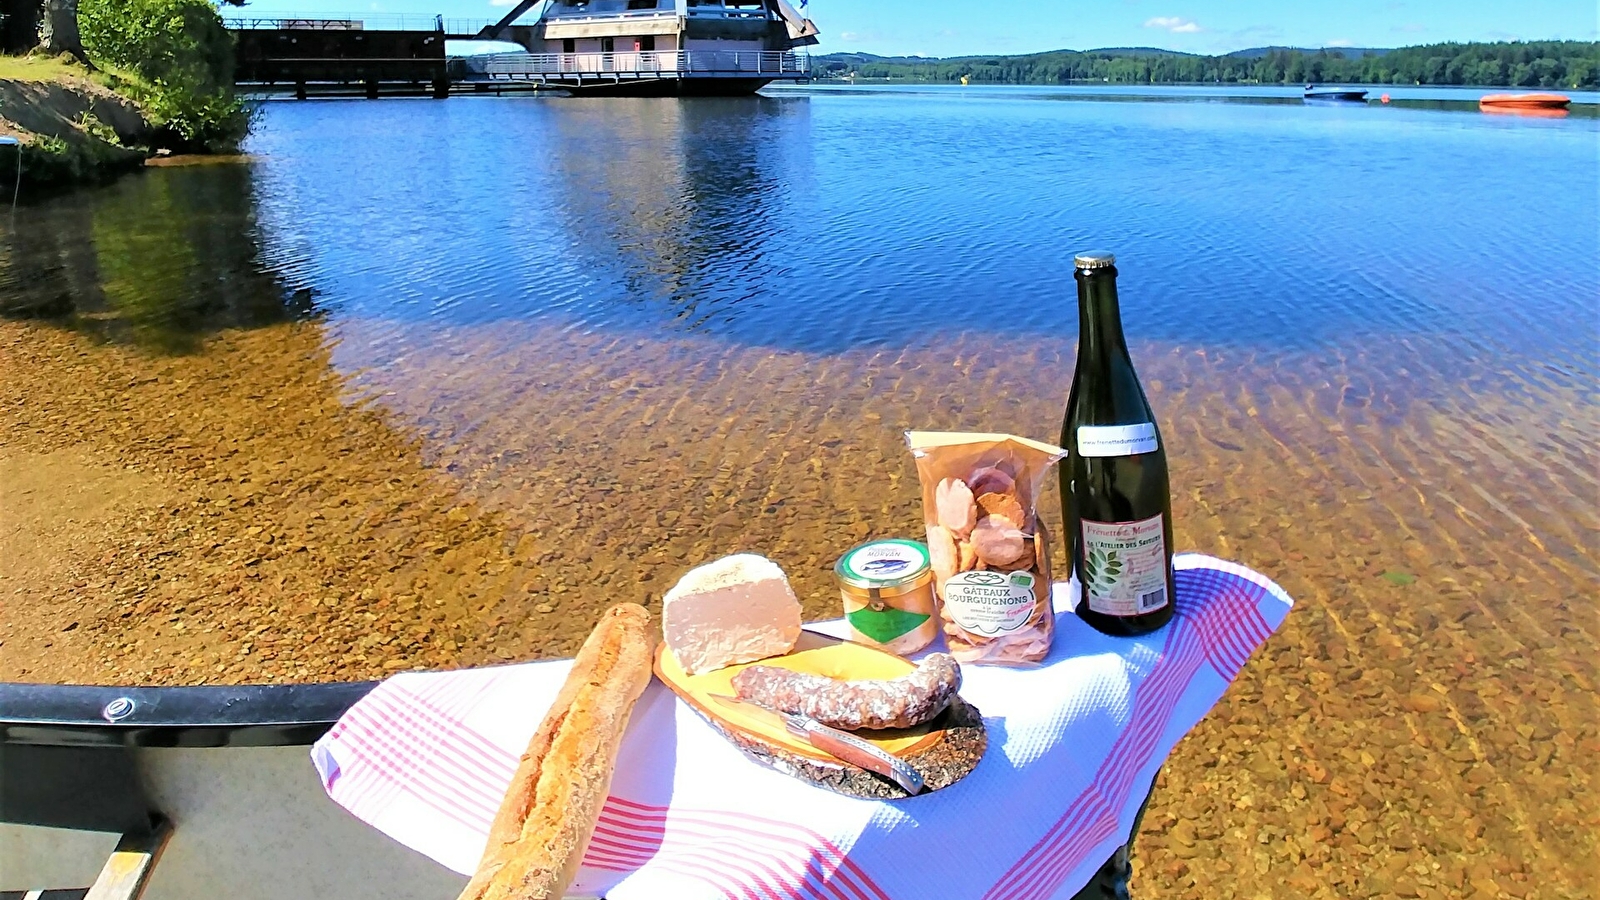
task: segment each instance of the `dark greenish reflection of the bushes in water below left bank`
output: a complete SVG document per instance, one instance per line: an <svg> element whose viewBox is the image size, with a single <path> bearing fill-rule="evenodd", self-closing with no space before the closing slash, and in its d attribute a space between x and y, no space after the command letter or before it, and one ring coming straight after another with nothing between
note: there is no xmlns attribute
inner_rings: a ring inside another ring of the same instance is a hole
<svg viewBox="0 0 1600 900"><path fill-rule="evenodd" d="M310 315L262 266L250 168L125 178L18 210L0 231L0 314L192 352L222 328Z"/></svg>

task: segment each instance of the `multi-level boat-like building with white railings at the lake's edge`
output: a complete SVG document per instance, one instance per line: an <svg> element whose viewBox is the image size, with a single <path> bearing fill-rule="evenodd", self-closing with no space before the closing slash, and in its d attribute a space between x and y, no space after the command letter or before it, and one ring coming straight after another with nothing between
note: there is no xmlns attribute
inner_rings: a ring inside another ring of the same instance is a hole
<svg viewBox="0 0 1600 900"><path fill-rule="evenodd" d="M584 94L749 94L771 82L806 82L797 48L818 29L787 0L554 0L531 26L514 24L523 0L478 38L528 53L469 61L474 78L523 82Z"/></svg>

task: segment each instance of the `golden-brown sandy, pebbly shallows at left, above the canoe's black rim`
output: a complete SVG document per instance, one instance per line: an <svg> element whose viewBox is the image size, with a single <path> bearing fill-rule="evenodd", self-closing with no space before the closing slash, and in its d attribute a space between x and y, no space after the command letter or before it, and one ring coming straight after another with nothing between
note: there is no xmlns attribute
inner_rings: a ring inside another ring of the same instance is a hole
<svg viewBox="0 0 1600 900"><path fill-rule="evenodd" d="M589 617L530 601L523 535L346 408L314 328L219 341L152 367L0 323L0 679L363 679L576 649ZM235 368L229 341L302 343L280 359L306 370Z"/></svg>

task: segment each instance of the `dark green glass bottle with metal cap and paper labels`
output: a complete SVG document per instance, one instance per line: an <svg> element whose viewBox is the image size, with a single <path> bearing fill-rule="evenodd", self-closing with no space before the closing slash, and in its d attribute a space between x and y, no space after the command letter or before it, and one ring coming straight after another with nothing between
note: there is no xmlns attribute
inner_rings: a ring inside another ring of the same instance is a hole
<svg viewBox="0 0 1600 900"><path fill-rule="evenodd" d="M1061 506L1078 615L1133 636L1173 618L1173 498L1162 431L1122 336L1115 263L1104 251L1074 258L1078 365L1061 423Z"/></svg>

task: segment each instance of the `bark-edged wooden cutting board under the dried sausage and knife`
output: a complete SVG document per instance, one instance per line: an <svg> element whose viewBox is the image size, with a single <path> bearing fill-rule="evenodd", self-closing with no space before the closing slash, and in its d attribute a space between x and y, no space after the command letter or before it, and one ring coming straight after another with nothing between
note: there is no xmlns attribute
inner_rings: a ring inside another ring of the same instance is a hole
<svg viewBox="0 0 1600 900"><path fill-rule="evenodd" d="M770 722L758 713L744 713L710 698L712 693L734 695L733 676L749 666L781 666L840 681L877 681L910 673L915 668L910 661L862 644L802 631L794 652L784 657L691 676L683 671L672 650L662 642L656 647L654 665L656 677L662 684L750 759L842 794L870 799L907 796L899 785L888 778L816 749L805 738L789 733L782 725ZM851 733L909 762L922 773L928 791L962 780L978 765L987 745L982 716L960 697L936 719L915 729Z"/></svg>

